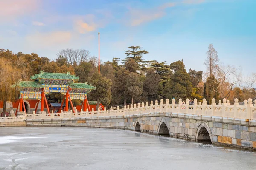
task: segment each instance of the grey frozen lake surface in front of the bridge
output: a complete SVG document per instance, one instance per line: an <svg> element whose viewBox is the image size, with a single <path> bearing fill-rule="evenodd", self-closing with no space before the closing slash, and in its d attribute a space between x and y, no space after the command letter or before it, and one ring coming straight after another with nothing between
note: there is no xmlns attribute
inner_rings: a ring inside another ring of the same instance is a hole
<svg viewBox="0 0 256 170"><path fill-rule="evenodd" d="M255 152L128 130L0 130L0 170L256 170Z"/></svg>

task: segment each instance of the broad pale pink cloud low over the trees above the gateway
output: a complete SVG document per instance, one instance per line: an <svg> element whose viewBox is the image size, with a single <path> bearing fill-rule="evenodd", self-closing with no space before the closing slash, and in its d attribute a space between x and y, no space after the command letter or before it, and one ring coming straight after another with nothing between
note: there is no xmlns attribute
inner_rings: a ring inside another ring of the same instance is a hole
<svg viewBox="0 0 256 170"><path fill-rule="evenodd" d="M56 44L66 44L70 39L71 33L69 31L52 31L28 35L26 43L32 48L46 48Z"/></svg>

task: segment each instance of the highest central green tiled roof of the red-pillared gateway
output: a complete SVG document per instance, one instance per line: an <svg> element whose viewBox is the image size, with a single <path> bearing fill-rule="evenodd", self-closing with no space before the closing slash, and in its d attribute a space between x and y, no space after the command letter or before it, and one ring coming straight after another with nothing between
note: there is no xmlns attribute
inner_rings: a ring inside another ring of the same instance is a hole
<svg viewBox="0 0 256 170"><path fill-rule="evenodd" d="M67 72L67 73L44 73L44 71L41 71L41 73L31 76L30 79L32 79L32 80L36 80L36 79L79 80L79 77L70 75L69 72Z"/></svg>

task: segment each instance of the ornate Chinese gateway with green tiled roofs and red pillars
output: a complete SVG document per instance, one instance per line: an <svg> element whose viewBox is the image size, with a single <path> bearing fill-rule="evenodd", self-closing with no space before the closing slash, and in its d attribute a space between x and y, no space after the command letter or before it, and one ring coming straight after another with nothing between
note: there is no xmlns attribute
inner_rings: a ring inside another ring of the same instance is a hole
<svg viewBox="0 0 256 170"><path fill-rule="evenodd" d="M81 108L83 110L88 109L90 111L90 103L95 104L93 101L87 100L87 93L95 90L96 88L87 83L76 83L79 77L70 75L70 73L44 73L40 71L40 74L31 76L30 79L34 81L19 81L12 87L18 88L20 91L20 97L15 114L17 111L25 111L25 100L29 103L37 101L35 106L35 113L38 111L38 105L40 105L40 111L44 111L44 105L46 105L48 113L50 113L48 102L45 94L49 93L61 93L64 94L61 107L58 112L64 107L64 111L68 111L68 102L70 102L71 108L74 111L72 99L80 99L82 101ZM65 103L64 103L65 102ZM14 106L15 107L15 106Z"/></svg>

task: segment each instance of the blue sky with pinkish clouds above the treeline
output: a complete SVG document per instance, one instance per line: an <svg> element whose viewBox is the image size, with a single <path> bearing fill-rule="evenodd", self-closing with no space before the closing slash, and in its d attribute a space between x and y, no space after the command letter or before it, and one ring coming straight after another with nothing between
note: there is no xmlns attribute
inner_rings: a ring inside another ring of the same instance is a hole
<svg viewBox="0 0 256 170"><path fill-rule="evenodd" d="M0 48L57 58L86 49L101 61L141 46L146 60L183 59L205 71L210 43L221 62L256 72L256 0L0 0Z"/></svg>

